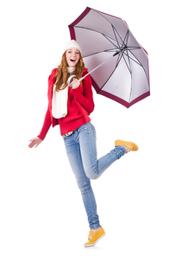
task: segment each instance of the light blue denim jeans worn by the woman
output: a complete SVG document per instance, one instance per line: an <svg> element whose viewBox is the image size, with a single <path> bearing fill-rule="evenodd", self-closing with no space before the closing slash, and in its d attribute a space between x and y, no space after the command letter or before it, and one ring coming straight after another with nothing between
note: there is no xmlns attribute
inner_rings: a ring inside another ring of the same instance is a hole
<svg viewBox="0 0 169 256"><path fill-rule="evenodd" d="M90 228L101 227L91 179L101 176L111 163L126 153L126 150L123 146L116 146L110 153L97 160L96 131L91 122L80 126L72 135L64 138L64 142L72 171L81 191Z"/></svg>

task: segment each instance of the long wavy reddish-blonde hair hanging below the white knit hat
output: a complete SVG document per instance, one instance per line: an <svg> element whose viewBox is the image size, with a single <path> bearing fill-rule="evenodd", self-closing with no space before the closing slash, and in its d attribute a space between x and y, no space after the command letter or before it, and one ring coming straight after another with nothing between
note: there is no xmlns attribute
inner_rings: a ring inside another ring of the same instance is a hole
<svg viewBox="0 0 169 256"><path fill-rule="evenodd" d="M58 67L57 73L54 74L54 77L56 77L56 81L55 81L54 85L56 85L57 92L59 92L59 90L65 89L66 86L68 86L67 80L68 80L70 74L67 73L66 67L67 67L67 61L66 61L66 52L65 52L62 55L61 63ZM76 78L80 79L83 71L84 71L84 61L82 59L81 53L79 52L79 61L75 67L75 70L72 72L72 74L75 74Z"/></svg>

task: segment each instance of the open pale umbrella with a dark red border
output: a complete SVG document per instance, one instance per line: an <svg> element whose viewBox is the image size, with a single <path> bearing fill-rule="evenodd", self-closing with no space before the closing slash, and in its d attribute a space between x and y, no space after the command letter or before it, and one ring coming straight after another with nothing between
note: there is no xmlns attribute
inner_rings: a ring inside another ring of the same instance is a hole
<svg viewBox="0 0 169 256"><path fill-rule="evenodd" d="M97 93L126 107L150 95L147 51L125 21L87 7L68 27Z"/></svg>

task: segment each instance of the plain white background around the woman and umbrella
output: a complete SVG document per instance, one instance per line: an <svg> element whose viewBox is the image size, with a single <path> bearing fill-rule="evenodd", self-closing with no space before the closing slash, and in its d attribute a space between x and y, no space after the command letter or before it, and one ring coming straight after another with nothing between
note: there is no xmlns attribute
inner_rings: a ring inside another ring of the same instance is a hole
<svg viewBox="0 0 169 256"><path fill-rule="evenodd" d="M169 255L168 6L162 1L7 0L0 4L0 254ZM124 19L149 54L151 96L131 108L96 95L98 157L117 138L131 152L92 181L106 236L84 249L89 227L59 127L37 149L47 78L86 8Z"/></svg>

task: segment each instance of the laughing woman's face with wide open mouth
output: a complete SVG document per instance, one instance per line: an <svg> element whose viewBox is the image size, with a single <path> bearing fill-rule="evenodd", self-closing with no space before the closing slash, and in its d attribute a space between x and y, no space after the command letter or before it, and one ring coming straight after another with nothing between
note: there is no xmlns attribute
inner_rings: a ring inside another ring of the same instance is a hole
<svg viewBox="0 0 169 256"><path fill-rule="evenodd" d="M80 52L77 48L66 50L66 61L68 67L76 67L80 58Z"/></svg>

